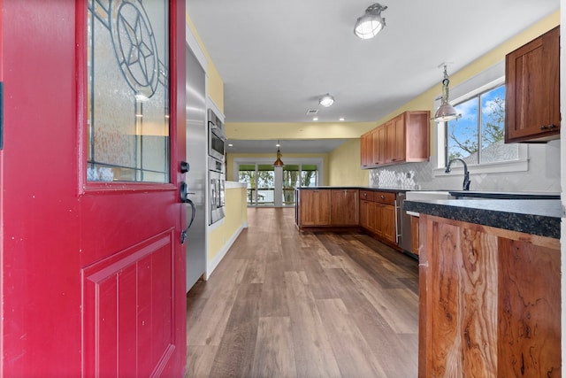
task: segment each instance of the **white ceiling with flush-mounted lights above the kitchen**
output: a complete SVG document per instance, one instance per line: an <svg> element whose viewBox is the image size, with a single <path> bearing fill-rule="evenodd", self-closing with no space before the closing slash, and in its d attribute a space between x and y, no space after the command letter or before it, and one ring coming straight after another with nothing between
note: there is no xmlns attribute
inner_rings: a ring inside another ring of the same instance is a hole
<svg viewBox="0 0 566 378"><path fill-rule="evenodd" d="M560 0L379 0L386 27L353 33L369 0L187 0L225 83L226 123L375 121L560 8ZM329 108L317 102L329 92Z"/></svg>

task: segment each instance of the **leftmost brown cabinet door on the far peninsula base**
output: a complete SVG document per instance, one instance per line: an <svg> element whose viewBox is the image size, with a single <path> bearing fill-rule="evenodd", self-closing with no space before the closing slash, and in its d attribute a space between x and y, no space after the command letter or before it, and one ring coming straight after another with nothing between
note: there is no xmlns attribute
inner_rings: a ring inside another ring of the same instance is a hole
<svg viewBox="0 0 566 378"><path fill-rule="evenodd" d="M301 190L301 226L330 225L330 192L329 189Z"/></svg>

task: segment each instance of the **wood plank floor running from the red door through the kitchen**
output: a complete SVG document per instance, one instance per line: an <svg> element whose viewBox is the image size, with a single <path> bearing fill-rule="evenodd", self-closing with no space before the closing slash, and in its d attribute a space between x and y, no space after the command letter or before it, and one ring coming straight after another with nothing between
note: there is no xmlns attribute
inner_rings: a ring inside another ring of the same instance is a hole
<svg viewBox="0 0 566 378"><path fill-rule="evenodd" d="M417 260L367 235L300 233L248 211L187 294L187 377L416 377Z"/></svg>

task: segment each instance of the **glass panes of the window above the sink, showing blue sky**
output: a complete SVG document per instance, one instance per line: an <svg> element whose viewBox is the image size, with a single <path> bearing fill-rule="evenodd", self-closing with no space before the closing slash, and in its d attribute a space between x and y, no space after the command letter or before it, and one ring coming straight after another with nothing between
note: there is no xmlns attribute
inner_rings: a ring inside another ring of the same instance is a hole
<svg viewBox="0 0 566 378"><path fill-rule="evenodd" d="M505 144L505 85L487 89L455 104L462 117L445 124L446 157L468 164L513 161L516 144Z"/></svg>

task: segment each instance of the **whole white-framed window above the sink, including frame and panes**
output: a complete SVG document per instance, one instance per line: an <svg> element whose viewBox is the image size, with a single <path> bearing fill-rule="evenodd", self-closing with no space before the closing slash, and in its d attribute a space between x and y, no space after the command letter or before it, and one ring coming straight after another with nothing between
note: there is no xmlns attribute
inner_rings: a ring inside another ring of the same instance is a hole
<svg viewBox="0 0 566 378"><path fill-rule="evenodd" d="M462 158L475 174L524 172L528 148L523 143L504 143L505 61L487 68L450 88L450 104L462 117L433 124L436 156L434 176L444 176L450 158ZM433 109L440 106L440 96ZM462 170L456 165L452 174ZM463 172L463 171L462 171Z"/></svg>

